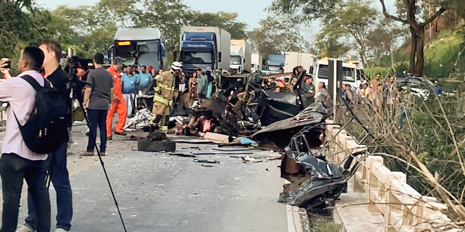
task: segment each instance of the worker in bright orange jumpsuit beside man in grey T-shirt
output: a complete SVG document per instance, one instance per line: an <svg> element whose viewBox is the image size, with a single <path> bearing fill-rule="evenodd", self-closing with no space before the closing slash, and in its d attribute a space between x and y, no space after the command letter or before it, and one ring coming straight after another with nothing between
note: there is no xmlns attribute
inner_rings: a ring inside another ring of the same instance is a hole
<svg viewBox="0 0 465 232"><path fill-rule="evenodd" d="M112 122L115 111L118 113L118 123L116 124L116 135L126 135L123 131L124 124L126 123L127 116L127 105L121 92L121 74L120 71L123 68L123 60L121 58L115 58L113 65L110 66L109 71L113 76L113 94L115 95L115 101L112 102L110 110L106 115L106 140L112 140Z"/></svg>

